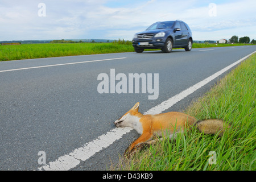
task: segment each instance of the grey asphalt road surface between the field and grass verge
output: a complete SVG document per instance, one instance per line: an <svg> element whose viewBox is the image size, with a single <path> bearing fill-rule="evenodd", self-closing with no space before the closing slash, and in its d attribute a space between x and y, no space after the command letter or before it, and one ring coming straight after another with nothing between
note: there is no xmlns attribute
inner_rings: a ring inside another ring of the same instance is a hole
<svg viewBox="0 0 256 182"><path fill-rule="evenodd" d="M46 163L53 162L114 129L115 119L136 102L144 113L255 50L256 46L174 49L1 62L0 170L36 170L42 166L39 151L46 152ZM83 63L68 64L77 62ZM110 77L110 69L127 78L129 73L158 73L158 98L148 100L152 94L142 91L98 93L97 77ZM182 111L226 73L166 111ZM137 137L133 130L71 170L110 168Z"/></svg>

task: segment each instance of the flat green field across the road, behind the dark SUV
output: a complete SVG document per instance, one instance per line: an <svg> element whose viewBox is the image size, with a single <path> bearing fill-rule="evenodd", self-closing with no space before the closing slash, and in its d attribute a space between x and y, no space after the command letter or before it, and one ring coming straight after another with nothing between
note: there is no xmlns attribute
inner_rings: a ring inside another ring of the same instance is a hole
<svg viewBox="0 0 256 182"><path fill-rule="evenodd" d="M193 44L193 48L243 46L245 44ZM248 45L248 44L247 44ZM249 44L251 45L251 44ZM0 46L0 61L92 55L99 53L133 52L131 42L119 40L113 43L47 43Z"/></svg>

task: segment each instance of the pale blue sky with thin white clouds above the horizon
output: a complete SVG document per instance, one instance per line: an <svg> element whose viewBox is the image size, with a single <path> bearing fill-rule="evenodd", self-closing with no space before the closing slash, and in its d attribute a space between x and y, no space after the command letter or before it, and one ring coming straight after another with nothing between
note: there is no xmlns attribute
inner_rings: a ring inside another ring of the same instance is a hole
<svg viewBox="0 0 256 182"><path fill-rule="evenodd" d="M194 40L233 35L252 40L256 39L255 8L255 0L1 0L0 41L131 40L154 22L176 19L188 23Z"/></svg>

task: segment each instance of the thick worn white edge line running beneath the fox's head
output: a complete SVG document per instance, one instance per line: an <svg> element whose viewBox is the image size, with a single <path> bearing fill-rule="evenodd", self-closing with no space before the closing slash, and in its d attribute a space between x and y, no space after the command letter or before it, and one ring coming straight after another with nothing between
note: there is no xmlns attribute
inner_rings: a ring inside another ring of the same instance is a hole
<svg viewBox="0 0 256 182"><path fill-rule="evenodd" d="M254 51L253 53L255 53ZM177 94L174 97L169 98L168 100L162 102L161 104L153 107L152 109L146 111L146 113L143 114L159 114L162 113L164 110L167 110L177 102L183 100L183 98L189 96L189 94L192 94L197 89L201 88L202 86L208 84L208 82L212 81L214 78L217 78L222 73L228 71L230 68L234 67L235 65L241 63L241 61L247 59L247 57L253 55L253 53L250 53L249 55L243 57L242 59L236 61L233 64L230 64L228 67L221 69L221 71L218 71L217 73L214 73L212 76L209 76L208 78L205 78L203 81L200 81L199 83L189 87L188 89L184 90L183 92ZM97 139L93 140L92 142L88 142L84 144L83 147L77 148L73 152L61 156L54 162L50 162L47 165L44 165L38 170L69 170L71 168L76 167L80 164L81 161L85 161L89 159L91 156L96 154L96 152L101 151L103 148L109 147L115 140L121 139L122 135L129 133L131 130L130 127L125 128L115 128L108 133L101 135Z"/></svg>

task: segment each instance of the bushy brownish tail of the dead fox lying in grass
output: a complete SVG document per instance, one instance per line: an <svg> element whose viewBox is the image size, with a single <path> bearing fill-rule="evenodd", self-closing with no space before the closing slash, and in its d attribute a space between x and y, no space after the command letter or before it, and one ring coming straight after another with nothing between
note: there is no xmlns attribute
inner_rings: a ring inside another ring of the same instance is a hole
<svg viewBox="0 0 256 182"><path fill-rule="evenodd" d="M203 121L196 122L197 129L205 134L216 134L218 133L219 137L222 137L225 130L229 129L231 126L226 124L220 119L207 119Z"/></svg>

